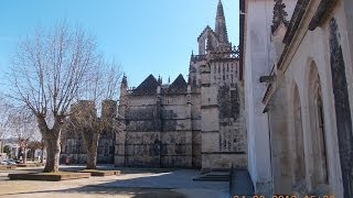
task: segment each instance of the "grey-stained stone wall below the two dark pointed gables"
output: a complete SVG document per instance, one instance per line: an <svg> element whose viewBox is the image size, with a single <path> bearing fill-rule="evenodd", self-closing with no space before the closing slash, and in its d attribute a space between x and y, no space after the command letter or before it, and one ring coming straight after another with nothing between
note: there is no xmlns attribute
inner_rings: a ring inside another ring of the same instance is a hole
<svg viewBox="0 0 353 198"><path fill-rule="evenodd" d="M193 144L192 110L186 95L126 97L131 102L125 110L125 141L118 140L121 136L117 139L118 150L124 150L117 151L120 158L117 165L192 167L200 143ZM146 105L147 101L150 103Z"/></svg>

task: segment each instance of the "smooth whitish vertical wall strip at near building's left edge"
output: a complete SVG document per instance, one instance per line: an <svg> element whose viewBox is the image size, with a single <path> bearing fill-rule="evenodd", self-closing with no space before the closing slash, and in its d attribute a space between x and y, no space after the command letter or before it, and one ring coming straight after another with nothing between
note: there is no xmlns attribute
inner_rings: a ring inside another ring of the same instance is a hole
<svg viewBox="0 0 353 198"><path fill-rule="evenodd" d="M263 113L261 99L266 87L259 77L268 75L269 38L272 19L272 0L246 0L244 92L248 145L248 170L255 191L268 195L271 185L268 117Z"/></svg>

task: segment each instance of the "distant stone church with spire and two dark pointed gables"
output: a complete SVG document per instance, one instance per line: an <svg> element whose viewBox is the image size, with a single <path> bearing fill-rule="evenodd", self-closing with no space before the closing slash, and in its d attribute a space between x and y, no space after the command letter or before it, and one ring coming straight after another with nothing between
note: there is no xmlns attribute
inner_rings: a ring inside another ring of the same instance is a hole
<svg viewBox="0 0 353 198"><path fill-rule="evenodd" d="M247 166L239 56L228 42L220 1L215 30L206 26L191 55L189 79L162 84L152 75L120 88L117 166L229 168Z"/></svg>

